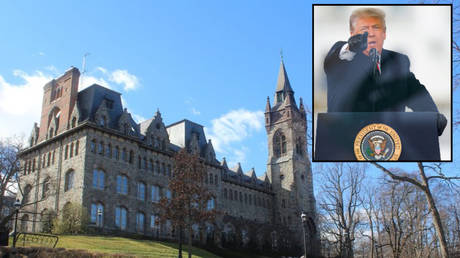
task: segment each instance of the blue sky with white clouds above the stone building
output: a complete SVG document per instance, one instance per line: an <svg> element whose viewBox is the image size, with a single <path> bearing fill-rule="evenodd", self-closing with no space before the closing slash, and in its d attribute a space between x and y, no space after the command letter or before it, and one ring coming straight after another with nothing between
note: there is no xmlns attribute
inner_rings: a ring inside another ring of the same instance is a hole
<svg viewBox="0 0 460 258"><path fill-rule="evenodd" d="M273 100L281 49L296 101L311 107L311 4L3 1L0 137L28 137L39 121L42 86L70 66L81 70L89 53L82 87L97 82L121 92L139 121L159 108L166 124L199 123L218 159L261 176L262 113L266 97Z"/></svg>

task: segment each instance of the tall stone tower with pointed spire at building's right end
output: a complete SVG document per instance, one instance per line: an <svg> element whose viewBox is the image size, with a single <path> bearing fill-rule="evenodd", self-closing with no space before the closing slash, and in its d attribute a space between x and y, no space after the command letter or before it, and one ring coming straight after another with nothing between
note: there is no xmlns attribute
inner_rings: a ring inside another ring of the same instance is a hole
<svg viewBox="0 0 460 258"><path fill-rule="evenodd" d="M295 238L303 246L301 214L306 212L307 239L310 242L307 245L318 246L313 179L307 152L306 113L302 98L299 106L296 104L283 60L274 97L273 106L267 97L265 108L267 175L275 193L274 222L286 225L295 232Z"/></svg>

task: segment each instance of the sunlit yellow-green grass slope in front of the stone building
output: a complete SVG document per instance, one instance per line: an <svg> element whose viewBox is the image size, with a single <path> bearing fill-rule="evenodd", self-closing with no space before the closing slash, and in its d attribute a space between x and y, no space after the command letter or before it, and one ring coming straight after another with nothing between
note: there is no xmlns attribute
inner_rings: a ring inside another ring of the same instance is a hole
<svg viewBox="0 0 460 258"><path fill-rule="evenodd" d="M10 242L11 243L11 242ZM21 246L18 242L18 246ZM178 245L151 240L135 240L109 236L59 236L57 248L85 249L88 252L107 254L126 254L136 257L177 257ZM182 255L188 253L183 245ZM205 250L193 247L192 257L218 257Z"/></svg>

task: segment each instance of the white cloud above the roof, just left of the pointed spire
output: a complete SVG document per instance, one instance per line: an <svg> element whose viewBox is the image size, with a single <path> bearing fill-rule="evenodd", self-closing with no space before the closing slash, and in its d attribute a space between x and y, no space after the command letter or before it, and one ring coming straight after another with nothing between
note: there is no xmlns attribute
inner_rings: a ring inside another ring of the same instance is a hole
<svg viewBox="0 0 460 258"><path fill-rule="evenodd" d="M226 156L229 164L244 162L248 148L236 146L253 132L260 131L264 125L263 111L245 109L232 110L211 121L211 128L205 128L214 149Z"/></svg>

